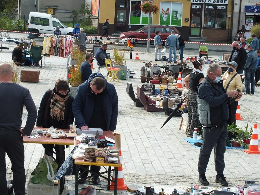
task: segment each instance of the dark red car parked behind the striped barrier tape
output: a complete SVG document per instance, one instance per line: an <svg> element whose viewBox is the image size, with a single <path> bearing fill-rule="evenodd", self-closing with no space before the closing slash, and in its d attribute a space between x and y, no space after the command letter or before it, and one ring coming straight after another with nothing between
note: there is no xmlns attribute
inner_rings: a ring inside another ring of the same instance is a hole
<svg viewBox="0 0 260 195"><path fill-rule="evenodd" d="M155 31L161 31L161 39L166 40L166 38L171 35L172 30L175 31L176 34L180 34L180 32L172 26L167 26L167 25L151 25L150 27L150 38L154 38L155 36ZM144 26L142 28L139 28L136 31L127 31L127 32L122 32L120 34L120 38L145 38L147 39L147 34L148 34L148 25ZM140 42L144 40L133 40L133 43ZM146 42L146 41L145 41ZM153 42L153 40L151 40ZM165 42L163 41L163 44Z"/></svg>

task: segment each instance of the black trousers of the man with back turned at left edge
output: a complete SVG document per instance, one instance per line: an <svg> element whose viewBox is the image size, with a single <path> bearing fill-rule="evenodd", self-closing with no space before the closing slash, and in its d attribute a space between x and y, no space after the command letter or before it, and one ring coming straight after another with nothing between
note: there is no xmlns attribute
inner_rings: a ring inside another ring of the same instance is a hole
<svg viewBox="0 0 260 195"><path fill-rule="evenodd" d="M0 130L0 194L8 195L5 153L12 163L13 189L16 195L25 195L24 146L20 131Z"/></svg>

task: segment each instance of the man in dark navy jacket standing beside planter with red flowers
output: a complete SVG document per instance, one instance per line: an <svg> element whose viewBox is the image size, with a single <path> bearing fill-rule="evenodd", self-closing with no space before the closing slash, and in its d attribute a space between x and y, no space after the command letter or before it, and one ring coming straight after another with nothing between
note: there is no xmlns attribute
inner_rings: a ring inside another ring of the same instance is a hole
<svg viewBox="0 0 260 195"><path fill-rule="evenodd" d="M86 80L88 80L89 76L92 74L90 63L92 63L93 60L94 60L93 53L88 52L85 55L85 61L81 64L81 67L80 67L82 83L84 83Z"/></svg>

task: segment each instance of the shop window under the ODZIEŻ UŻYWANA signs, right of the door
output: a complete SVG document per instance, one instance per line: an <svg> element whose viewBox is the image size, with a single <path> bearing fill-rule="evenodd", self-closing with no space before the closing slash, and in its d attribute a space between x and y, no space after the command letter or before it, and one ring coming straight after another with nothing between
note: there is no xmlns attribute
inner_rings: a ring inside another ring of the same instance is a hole
<svg viewBox="0 0 260 195"><path fill-rule="evenodd" d="M205 5L204 27L226 28L227 5Z"/></svg>

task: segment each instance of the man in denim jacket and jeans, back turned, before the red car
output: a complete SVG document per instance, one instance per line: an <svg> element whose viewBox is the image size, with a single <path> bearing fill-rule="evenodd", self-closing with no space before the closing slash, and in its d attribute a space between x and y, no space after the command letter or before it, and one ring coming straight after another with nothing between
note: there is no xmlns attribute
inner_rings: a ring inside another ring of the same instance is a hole
<svg viewBox="0 0 260 195"><path fill-rule="evenodd" d="M175 36L175 31L172 31L172 34L167 37L164 47L167 47L168 43L169 43L169 60L168 60L168 62L170 62L170 63L172 62L172 52L173 52L174 63L177 63L176 50L177 50L177 48L179 48L179 40L178 40L178 37Z"/></svg>

